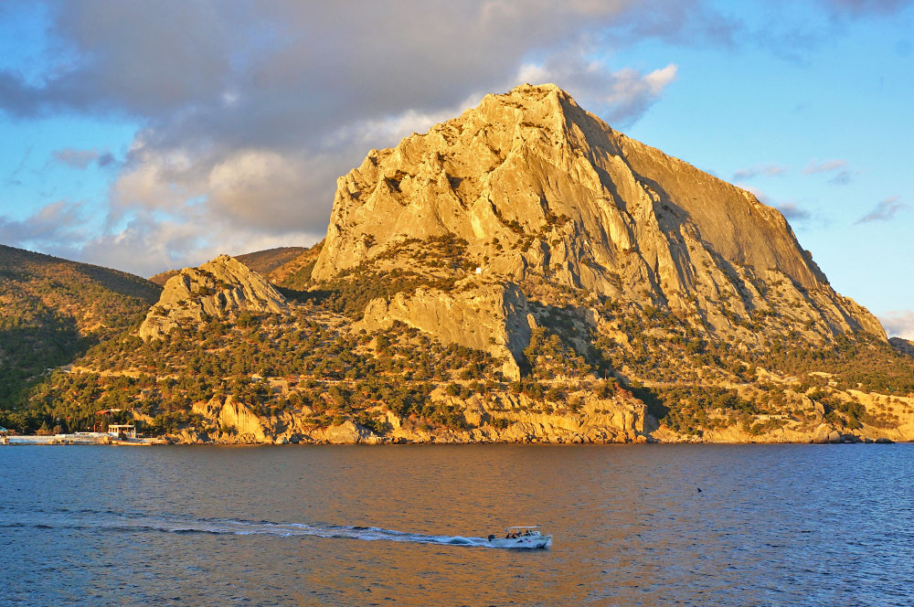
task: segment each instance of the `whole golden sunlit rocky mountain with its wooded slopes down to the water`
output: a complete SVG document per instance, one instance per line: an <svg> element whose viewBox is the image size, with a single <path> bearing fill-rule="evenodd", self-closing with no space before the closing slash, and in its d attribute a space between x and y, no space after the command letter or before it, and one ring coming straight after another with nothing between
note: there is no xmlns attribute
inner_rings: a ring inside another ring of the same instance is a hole
<svg viewBox="0 0 914 607"><path fill-rule="evenodd" d="M142 325L29 393L30 423L105 406L178 442L914 438L914 357L777 210L552 85L371 151L323 242L249 259L263 276L220 257L169 278Z"/></svg>

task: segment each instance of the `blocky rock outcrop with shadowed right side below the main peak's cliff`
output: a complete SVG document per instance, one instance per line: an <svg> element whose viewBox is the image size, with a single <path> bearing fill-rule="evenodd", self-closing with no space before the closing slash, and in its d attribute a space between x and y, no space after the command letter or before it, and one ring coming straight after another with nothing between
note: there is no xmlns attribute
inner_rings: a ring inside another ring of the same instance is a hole
<svg viewBox="0 0 914 607"><path fill-rule="evenodd" d="M526 297L515 284L465 282L451 293L420 288L397 293L389 302L377 298L367 305L358 326L371 331L399 321L434 334L445 344L489 352L503 360L505 378L517 379L530 341L528 316Z"/></svg>

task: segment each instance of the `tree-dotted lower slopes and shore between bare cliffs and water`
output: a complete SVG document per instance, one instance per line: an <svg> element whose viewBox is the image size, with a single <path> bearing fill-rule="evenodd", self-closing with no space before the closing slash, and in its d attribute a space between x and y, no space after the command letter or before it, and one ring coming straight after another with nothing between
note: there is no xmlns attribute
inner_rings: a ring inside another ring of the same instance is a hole
<svg viewBox="0 0 914 607"><path fill-rule="evenodd" d="M311 303L294 304L296 314L330 313ZM914 399L879 394L898 378L865 372L866 360L878 368L877 354L894 356L875 340L848 341L830 353L834 360L823 352L772 357L760 370L740 364L726 346L674 347L674 334L672 345L652 341L646 351L655 356L641 367L685 360L696 383L680 377L649 384L616 377L623 374L614 364L632 376L640 370L624 352L618 360L589 361L544 327L526 348L526 376L507 381L485 353L443 346L413 327L349 337L342 315L299 321L298 328L290 320L242 314L236 323L188 326L158 342L125 335L94 346L30 391L24 412L34 417L26 420L53 433L131 422L174 442L222 444L909 440L904 429ZM259 346L279 335L292 339ZM849 379L806 370L839 360L856 369ZM98 361L107 368L88 366ZM616 375L598 378L600 367ZM101 409L121 411L94 415Z"/></svg>

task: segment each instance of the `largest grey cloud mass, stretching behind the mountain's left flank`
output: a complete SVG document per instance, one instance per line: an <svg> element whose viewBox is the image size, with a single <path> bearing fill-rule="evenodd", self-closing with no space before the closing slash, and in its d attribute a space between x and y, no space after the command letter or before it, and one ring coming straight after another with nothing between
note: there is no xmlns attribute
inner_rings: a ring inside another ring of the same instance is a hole
<svg viewBox="0 0 914 607"><path fill-rule="evenodd" d="M48 0L48 14L48 68L0 70L0 112L143 125L122 162L94 158L116 181L109 228L80 253L135 272L319 238L335 177L486 92L539 76L624 126L675 80L675 58L635 70L593 57L651 38L747 39L701 0Z"/></svg>

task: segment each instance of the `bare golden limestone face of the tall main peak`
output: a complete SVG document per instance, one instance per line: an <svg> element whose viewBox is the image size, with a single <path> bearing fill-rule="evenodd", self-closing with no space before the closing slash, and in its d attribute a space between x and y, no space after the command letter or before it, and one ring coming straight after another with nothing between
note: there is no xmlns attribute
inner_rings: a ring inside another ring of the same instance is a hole
<svg viewBox="0 0 914 607"><path fill-rule="evenodd" d="M834 293L779 211L613 131L554 85L487 95L372 150L337 181L313 276L446 234L466 240L467 262L494 281L661 304L725 333L762 312L808 336L885 339L875 317Z"/></svg>

